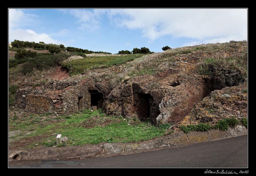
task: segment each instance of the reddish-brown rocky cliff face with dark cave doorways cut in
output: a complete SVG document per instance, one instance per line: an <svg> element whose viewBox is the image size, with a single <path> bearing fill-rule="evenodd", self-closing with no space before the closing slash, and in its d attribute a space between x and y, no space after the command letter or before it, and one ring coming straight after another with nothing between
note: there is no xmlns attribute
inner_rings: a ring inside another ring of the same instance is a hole
<svg viewBox="0 0 256 176"><path fill-rule="evenodd" d="M155 124L213 122L223 115L235 115L234 111L247 116L247 93L241 93L247 91L247 84L242 84L245 78L241 70L220 69L212 64L208 66L211 74L205 76L195 69L205 58L221 55L225 59L245 50L244 45L239 45L237 48L227 47L225 52L200 49L192 52L189 49L186 54L171 50L153 54L128 63L129 66L99 69L97 79L53 81L42 87L20 89L16 94L16 106L32 113L54 112L60 115L85 108L101 108L110 115L149 119ZM181 52L185 53L184 50ZM141 67L158 71L125 77L132 69L144 71ZM104 74L105 78L123 74L124 79L113 86L113 80L104 79ZM226 112L225 108L232 113L222 113ZM207 113L209 109L214 113Z"/></svg>

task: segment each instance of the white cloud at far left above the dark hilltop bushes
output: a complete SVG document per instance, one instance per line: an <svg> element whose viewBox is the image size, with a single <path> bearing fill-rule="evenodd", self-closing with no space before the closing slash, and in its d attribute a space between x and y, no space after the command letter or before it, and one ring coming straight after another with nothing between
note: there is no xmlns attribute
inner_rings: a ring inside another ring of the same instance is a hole
<svg viewBox="0 0 256 176"><path fill-rule="evenodd" d="M33 14L24 13L19 9L9 9L9 42L16 40L23 40L29 42L40 42L59 44L57 40L51 38L45 33L36 33L31 29L22 29L28 22L33 21Z"/></svg>

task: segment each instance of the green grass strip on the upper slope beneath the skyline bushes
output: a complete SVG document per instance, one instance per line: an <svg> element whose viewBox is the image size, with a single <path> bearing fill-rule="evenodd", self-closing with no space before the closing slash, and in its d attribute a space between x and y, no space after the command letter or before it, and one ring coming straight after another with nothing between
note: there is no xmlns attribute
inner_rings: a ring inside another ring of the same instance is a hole
<svg viewBox="0 0 256 176"><path fill-rule="evenodd" d="M112 65L120 65L122 63L132 61L138 57L142 57L143 55L144 54L94 56L64 62L62 63L62 67L68 68L70 75L79 75L88 69L106 68Z"/></svg>

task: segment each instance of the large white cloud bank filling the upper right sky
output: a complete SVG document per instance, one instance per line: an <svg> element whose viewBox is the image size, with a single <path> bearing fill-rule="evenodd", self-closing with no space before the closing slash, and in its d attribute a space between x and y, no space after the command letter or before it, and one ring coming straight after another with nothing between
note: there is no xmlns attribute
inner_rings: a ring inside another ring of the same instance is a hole
<svg viewBox="0 0 256 176"><path fill-rule="evenodd" d="M172 35L200 41L247 39L247 9L111 9L112 21L153 41Z"/></svg>

